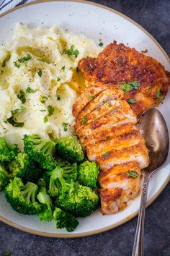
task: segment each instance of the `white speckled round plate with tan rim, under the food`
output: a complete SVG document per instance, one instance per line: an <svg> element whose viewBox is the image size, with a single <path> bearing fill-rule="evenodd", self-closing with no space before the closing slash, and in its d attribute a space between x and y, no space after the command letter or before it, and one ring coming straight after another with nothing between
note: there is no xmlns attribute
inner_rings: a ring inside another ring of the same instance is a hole
<svg viewBox="0 0 170 256"><path fill-rule="evenodd" d="M84 34L94 39L98 44L101 38L104 46L113 40L118 43L135 47L138 51L148 49L148 55L160 61L169 69L169 59L161 46L149 35L146 30L120 14L107 7L84 1L38 1L36 4L26 4L15 8L12 12L0 15L0 43L12 38L12 29L17 22L27 23L31 26L50 27L57 25L73 33ZM166 96L160 110L164 115L170 129L170 92ZM170 157L164 168L161 168L153 178L148 189L148 203L158 197L169 181ZM97 210L88 218L80 218L79 226L73 233L55 229L55 223L44 223L36 216L22 216L14 212L4 198L0 195L0 220L17 229L29 231L42 236L76 237L97 234L119 226L133 218L138 211L140 198L120 213L112 216L102 216Z"/></svg>

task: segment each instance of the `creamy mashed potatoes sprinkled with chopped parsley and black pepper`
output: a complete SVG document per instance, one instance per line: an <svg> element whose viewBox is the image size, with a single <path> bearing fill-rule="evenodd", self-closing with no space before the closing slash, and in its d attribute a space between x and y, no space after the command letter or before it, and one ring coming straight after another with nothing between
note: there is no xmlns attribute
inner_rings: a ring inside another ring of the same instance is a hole
<svg viewBox="0 0 170 256"><path fill-rule="evenodd" d="M24 134L72 134L81 90L76 67L98 52L82 35L17 25L12 41L0 47L0 136L22 148Z"/></svg>

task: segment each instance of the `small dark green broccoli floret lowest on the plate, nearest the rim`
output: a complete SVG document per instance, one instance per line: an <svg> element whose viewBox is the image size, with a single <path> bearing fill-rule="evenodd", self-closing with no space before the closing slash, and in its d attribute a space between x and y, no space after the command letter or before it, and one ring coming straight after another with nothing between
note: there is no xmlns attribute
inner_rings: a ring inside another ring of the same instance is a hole
<svg viewBox="0 0 170 256"><path fill-rule="evenodd" d="M70 213L66 213L60 208L55 208L53 218L56 221L57 229L66 229L68 232L72 232L79 225L79 221L77 221L76 217Z"/></svg>

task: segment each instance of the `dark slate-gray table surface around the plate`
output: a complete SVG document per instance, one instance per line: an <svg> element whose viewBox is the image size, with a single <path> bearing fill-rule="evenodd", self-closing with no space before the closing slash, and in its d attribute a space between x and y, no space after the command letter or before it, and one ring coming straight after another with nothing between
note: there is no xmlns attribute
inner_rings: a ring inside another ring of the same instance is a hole
<svg viewBox="0 0 170 256"><path fill-rule="evenodd" d="M95 1L112 7L142 25L170 55L169 0ZM170 185L146 210L146 256L170 256ZM53 239L27 234L0 222L0 255L17 256L129 256L137 218L122 226L79 239Z"/></svg>

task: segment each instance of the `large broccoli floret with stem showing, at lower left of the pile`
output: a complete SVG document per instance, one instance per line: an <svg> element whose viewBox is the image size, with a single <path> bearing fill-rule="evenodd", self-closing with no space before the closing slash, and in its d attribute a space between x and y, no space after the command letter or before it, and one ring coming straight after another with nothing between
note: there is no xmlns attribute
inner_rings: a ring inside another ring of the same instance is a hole
<svg viewBox="0 0 170 256"><path fill-rule="evenodd" d="M5 189L7 202L18 213L34 215L42 212L43 205L36 202L37 184L27 182L23 184L21 178L14 177Z"/></svg>

